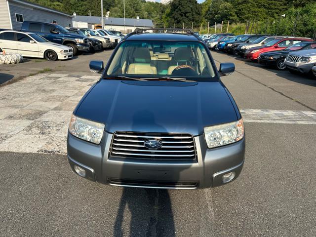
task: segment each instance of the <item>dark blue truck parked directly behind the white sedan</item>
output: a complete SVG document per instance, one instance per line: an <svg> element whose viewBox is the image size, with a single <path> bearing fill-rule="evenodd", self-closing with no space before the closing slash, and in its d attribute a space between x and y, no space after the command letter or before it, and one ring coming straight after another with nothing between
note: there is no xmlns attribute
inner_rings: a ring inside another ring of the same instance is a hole
<svg viewBox="0 0 316 237"><path fill-rule="evenodd" d="M78 51L87 52L90 48L87 37L72 34L64 27L56 24L25 21L22 24L21 30L34 32L51 42L72 47L74 55L76 55Z"/></svg>

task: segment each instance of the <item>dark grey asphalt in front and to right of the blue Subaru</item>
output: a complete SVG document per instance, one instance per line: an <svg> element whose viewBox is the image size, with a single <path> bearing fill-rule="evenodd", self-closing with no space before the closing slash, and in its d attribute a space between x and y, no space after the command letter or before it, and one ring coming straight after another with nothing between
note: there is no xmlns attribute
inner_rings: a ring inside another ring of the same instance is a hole
<svg viewBox="0 0 316 237"><path fill-rule="evenodd" d="M316 110L316 80L212 54L236 64L222 80L240 109ZM0 152L0 236L316 236L316 125L245 129L240 176L205 190L104 186L74 174L64 155Z"/></svg>

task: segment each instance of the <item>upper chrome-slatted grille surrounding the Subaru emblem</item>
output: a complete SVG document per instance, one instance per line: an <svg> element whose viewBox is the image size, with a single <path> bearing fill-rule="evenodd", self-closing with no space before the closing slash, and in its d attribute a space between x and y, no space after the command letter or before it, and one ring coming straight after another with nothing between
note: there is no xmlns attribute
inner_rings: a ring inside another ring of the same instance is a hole
<svg viewBox="0 0 316 237"><path fill-rule="evenodd" d="M158 140L162 146L148 149L144 143ZM116 132L111 145L112 157L142 159L196 159L196 146L191 134Z"/></svg>

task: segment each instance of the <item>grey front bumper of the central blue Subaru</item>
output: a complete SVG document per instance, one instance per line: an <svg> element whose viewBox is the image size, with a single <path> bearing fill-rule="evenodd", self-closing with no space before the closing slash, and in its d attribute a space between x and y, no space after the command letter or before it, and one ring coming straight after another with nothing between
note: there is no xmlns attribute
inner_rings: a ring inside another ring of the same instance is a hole
<svg viewBox="0 0 316 237"><path fill-rule="evenodd" d="M204 135L196 136L197 160L158 160L111 157L112 136L104 132L101 144L94 145L68 134L67 156L73 170L78 165L88 179L114 186L202 189L225 184L222 176L229 172L236 173L235 180L244 162L244 138L208 149Z"/></svg>

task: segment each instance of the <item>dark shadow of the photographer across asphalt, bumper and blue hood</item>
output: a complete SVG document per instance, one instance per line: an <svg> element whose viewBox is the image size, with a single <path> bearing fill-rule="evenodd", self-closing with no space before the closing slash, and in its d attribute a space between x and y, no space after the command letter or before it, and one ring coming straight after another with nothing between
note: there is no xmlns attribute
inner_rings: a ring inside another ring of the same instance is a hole
<svg viewBox="0 0 316 237"><path fill-rule="evenodd" d="M139 110L133 115L132 131L140 131L142 127L150 127L151 130L159 131L161 134L168 132L156 122L154 114L148 110ZM155 166L148 165L153 161L153 159L147 159L142 162L143 165L140 167L137 167L136 163L131 166L133 160L124 162L121 167L119 179L122 182L133 180L144 182L146 186L150 186L151 184L156 186L153 182L157 181L157 179L163 182L179 181L181 171L191 166L191 164L185 164L181 165L181 169L178 168L175 170L169 168L169 170L165 170L166 167L163 163L168 161L161 162L160 160L159 162L158 160L155 161ZM123 227L126 226L124 222L126 220L126 213L124 215L124 211L127 208L130 211L129 235L123 233ZM122 236L174 237L175 226L168 190L124 187L114 226L114 237Z"/></svg>

